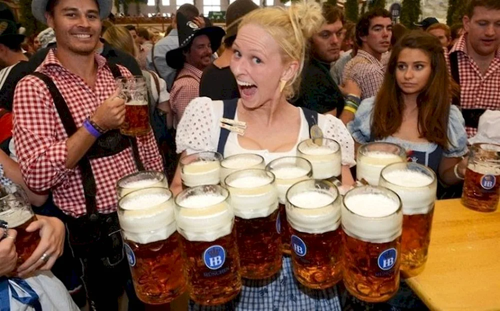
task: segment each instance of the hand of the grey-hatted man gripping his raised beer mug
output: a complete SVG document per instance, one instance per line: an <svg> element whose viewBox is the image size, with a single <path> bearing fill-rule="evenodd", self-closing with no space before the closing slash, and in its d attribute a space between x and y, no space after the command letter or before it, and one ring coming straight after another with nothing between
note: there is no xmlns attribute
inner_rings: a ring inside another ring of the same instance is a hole
<svg viewBox="0 0 500 311"><path fill-rule="evenodd" d="M125 120L125 101L118 97L118 93L118 89L114 91L92 116L92 121L104 130L118 128Z"/></svg>

